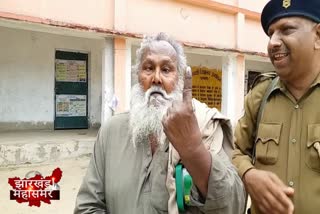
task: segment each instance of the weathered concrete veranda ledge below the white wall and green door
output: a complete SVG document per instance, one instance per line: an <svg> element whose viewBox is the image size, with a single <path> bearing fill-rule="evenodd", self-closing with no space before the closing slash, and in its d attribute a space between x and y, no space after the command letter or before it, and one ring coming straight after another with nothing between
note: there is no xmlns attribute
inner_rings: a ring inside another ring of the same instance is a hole
<svg viewBox="0 0 320 214"><path fill-rule="evenodd" d="M88 156L96 134L97 129L0 133L0 167Z"/></svg>

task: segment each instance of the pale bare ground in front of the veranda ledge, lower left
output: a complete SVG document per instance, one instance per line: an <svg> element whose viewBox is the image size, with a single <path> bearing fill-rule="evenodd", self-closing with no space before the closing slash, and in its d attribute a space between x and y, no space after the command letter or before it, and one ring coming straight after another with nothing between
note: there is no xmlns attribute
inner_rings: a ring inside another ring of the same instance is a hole
<svg viewBox="0 0 320 214"><path fill-rule="evenodd" d="M75 198L82 178L89 164L89 157L82 156L72 159L56 161L50 164L27 164L20 166L0 167L0 213L3 214L71 214L73 212ZM41 202L40 207L28 206L27 203L17 203L10 200L8 178L25 178L30 171L38 171L43 176L51 175L52 171L59 167L62 170L60 186L60 200L51 201L51 204Z"/></svg>

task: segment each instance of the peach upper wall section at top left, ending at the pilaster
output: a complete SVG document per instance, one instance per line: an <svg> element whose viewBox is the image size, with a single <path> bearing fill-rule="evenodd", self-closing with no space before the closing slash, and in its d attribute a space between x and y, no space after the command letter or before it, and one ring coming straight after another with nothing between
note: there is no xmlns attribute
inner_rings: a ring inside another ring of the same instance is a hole
<svg viewBox="0 0 320 214"><path fill-rule="evenodd" d="M1 0L0 11L102 28L114 22L113 0Z"/></svg>

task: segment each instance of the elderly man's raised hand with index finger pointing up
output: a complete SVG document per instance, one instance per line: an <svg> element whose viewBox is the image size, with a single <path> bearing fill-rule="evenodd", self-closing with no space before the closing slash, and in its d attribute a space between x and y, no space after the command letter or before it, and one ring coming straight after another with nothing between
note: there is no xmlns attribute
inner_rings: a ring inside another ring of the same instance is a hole
<svg viewBox="0 0 320 214"><path fill-rule="evenodd" d="M201 145L201 133L192 106L192 72L185 71L183 100L174 101L162 119L164 132L180 156L191 155Z"/></svg>

